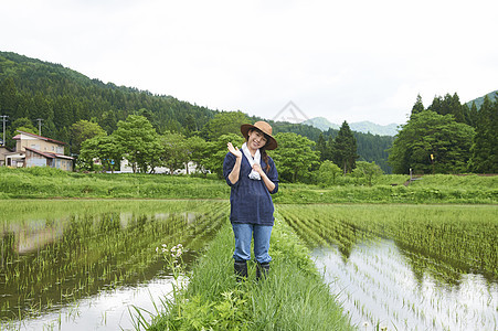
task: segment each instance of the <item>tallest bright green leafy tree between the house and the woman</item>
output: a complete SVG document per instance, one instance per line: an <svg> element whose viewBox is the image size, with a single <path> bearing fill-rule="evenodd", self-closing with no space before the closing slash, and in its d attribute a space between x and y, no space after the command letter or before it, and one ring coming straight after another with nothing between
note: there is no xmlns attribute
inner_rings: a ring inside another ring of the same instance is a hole
<svg viewBox="0 0 498 331"><path fill-rule="evenodd" d="M117 126L113 136L123 147L124 157L131 164L134 172L153 171L153 167L159 164L162 146L152 125L144 116L129 115Z"/></svg>

